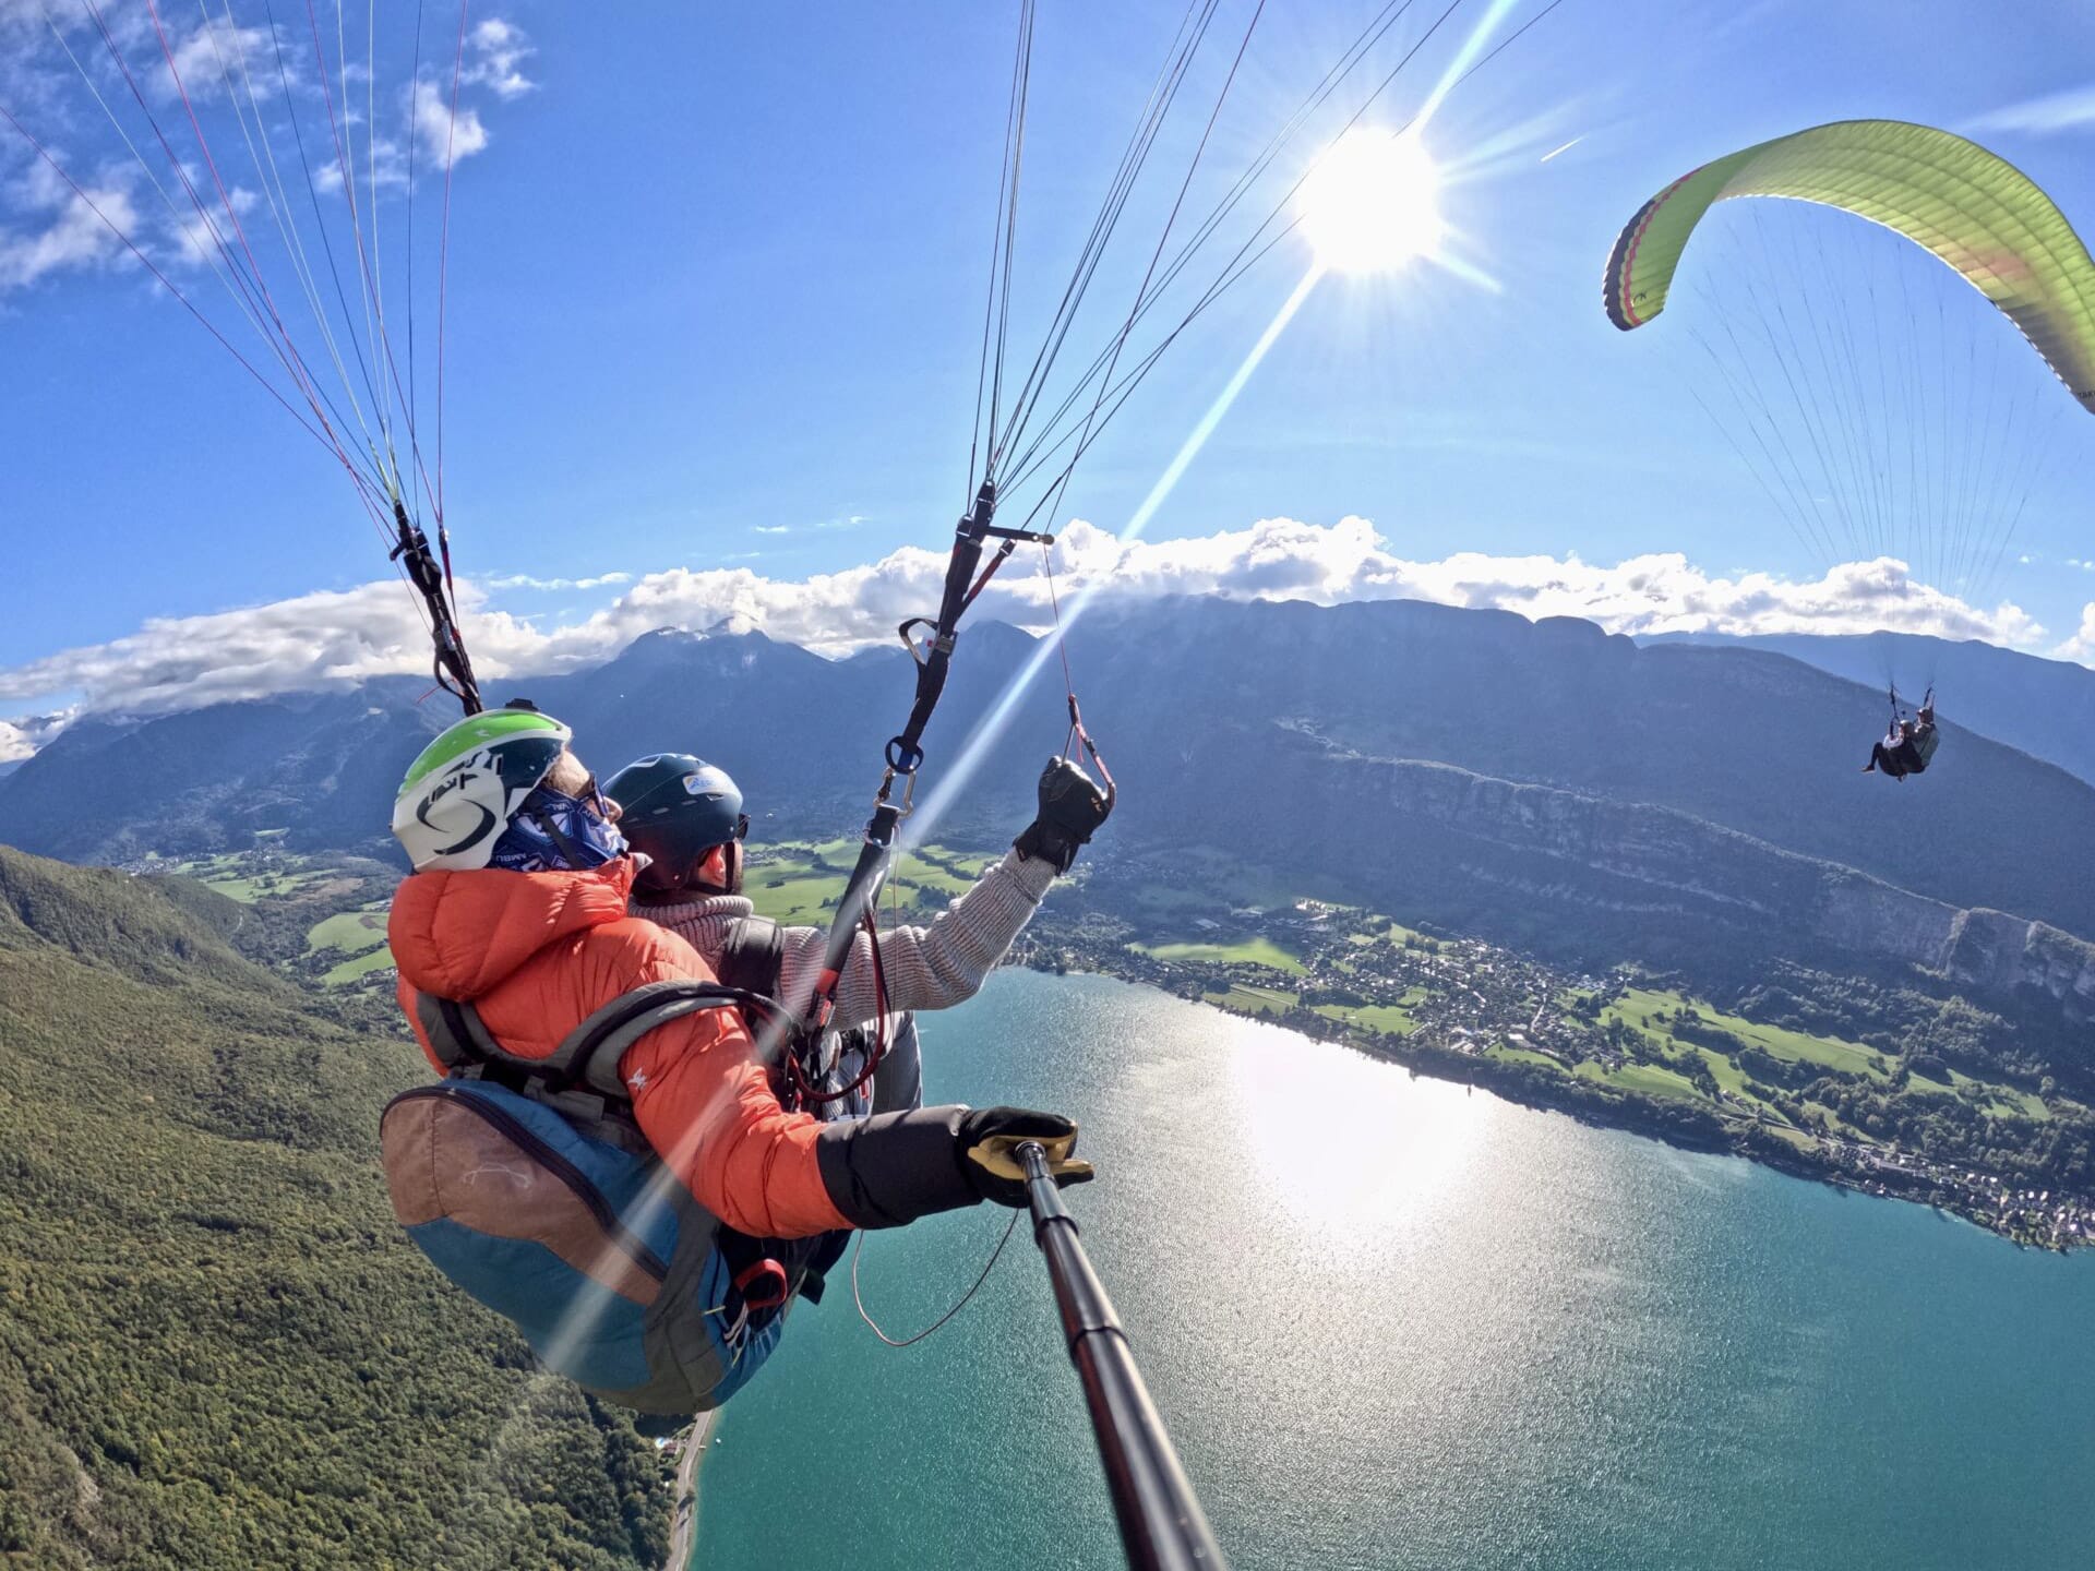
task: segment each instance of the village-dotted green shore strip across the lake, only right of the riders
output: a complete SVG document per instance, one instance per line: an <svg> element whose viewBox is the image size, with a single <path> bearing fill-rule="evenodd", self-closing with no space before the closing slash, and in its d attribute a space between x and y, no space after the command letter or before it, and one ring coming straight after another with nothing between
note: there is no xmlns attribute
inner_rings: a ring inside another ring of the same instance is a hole
<svg viewBox="0 0 2095 1571"><path fill-rule="evenodd" d="M2017 1244L2095 1244L2085 1102L1829 1008L1812 997L1827 978L1781 972L1718 1008L1674 976L1408 928L1257 871L1194 861L1188 888L1140 861L1102 863L1041 909L1008 964L1148 984L1521 1106L1936 1207Z"/></svg>

